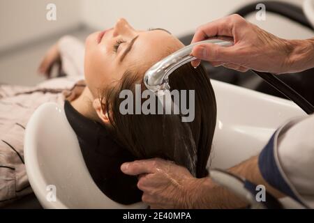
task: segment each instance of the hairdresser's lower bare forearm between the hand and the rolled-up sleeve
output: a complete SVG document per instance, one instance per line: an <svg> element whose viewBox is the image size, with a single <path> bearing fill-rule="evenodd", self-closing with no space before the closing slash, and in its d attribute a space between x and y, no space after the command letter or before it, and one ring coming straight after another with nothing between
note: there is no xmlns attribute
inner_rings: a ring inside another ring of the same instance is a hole
<svg viewBox="0 0 314 223"><path fill-rule="evenodd" d="M246 178L256 185L264 185L267 192L277 198L283 197L283 194L271 187L258 168L258 157L250 159L230 168L228 171L237 176ZM202 178L195 181L193 192L190 194L194 197L192 200L192 208L244 208L248 205L246 201L239 199L237 195L211 180L211 178Z"/></svg>

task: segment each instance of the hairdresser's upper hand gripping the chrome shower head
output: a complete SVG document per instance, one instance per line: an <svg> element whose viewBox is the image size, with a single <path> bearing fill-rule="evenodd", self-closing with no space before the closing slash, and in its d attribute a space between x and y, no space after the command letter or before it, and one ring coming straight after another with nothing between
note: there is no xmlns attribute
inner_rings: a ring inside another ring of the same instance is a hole
<svg viewBox="0 0 314 223"><path fill-rule="evenodd" d="M192 43L214 36L233 38L234 46L197 45L192 55L209 61L213 66L225 66L241 72L249 69L274 73L294 71L290 62L293 48L287 43L288 40L267 33L239 15L230 15L200 26ZM200 60L192 62L194 67L199 64Z"/></svg>

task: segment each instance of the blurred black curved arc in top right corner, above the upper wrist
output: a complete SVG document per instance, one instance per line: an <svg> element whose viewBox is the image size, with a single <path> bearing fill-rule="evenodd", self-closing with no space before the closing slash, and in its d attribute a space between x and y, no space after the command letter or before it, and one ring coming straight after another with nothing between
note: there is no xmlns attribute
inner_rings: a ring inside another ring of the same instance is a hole
<svg viewBox="0 0 314 223"><path fill-rule="evenodd" d="M282 1L259 1L255 3L250 3L235 11L233 14L239 14L242 17L246 17L250 13L256 12L257 3L263 3L266 6L267 12L276 13L278 15L286 17L287 19L297 22L302 26L307 27L308 29L313 30L311 23L308 22L308 19L306 18L303 10L300 7Z"/></svg>

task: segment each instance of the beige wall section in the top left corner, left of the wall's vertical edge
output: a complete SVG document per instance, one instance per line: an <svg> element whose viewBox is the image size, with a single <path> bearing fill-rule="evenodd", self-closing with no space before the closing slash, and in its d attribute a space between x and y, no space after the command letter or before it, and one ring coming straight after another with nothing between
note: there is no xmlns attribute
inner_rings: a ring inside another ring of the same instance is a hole
<svg viewBox="0 0 314 223"><path fill-rule="evenodd" d="M57 5L57 21L46 20L47 3ZM77 0L1 0L0 50L77 26L80 6Z"/></svg>

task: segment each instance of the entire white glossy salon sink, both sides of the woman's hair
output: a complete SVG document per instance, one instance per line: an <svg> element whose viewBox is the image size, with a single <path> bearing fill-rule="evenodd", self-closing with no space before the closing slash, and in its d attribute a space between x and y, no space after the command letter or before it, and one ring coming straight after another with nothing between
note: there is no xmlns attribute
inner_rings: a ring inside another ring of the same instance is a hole
<svg viewBox="0 0 314 223"><path fill-rule="evenodd" d="M276 128L305 116L294 103L231 84L212 81L218 121L211 167L227 168L257 155ZM44 208L145 208L123 206L107 198L92 180L63 107L38 107L27 125L24 156L29 182ZM57 200L53 201L54 185ZM48 198L48 199L47 199Z"/></svg>

